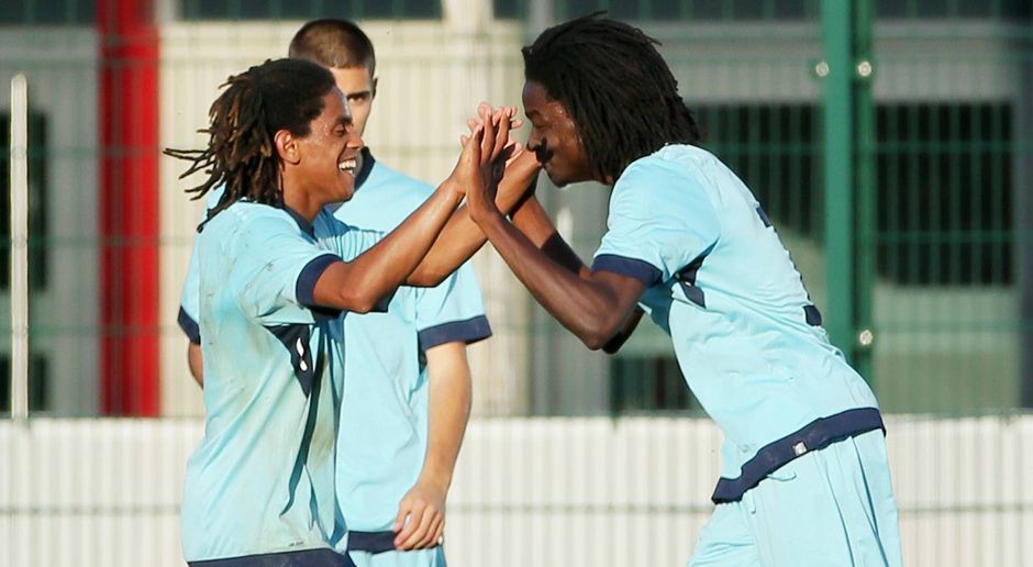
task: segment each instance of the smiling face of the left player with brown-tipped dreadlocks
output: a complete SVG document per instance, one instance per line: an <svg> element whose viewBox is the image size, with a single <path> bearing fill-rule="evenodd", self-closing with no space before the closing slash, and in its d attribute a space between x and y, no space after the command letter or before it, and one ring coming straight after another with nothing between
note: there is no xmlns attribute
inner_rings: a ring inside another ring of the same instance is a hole
<svg viewBox="0 0 1033 567"><path fill-rule="evenodd" d="M341 89L323 96L323 111L309 123L309 135L298 138L306 191L322 204L347 201L355 192L363 140L352 124L352 112Z"/></svg>

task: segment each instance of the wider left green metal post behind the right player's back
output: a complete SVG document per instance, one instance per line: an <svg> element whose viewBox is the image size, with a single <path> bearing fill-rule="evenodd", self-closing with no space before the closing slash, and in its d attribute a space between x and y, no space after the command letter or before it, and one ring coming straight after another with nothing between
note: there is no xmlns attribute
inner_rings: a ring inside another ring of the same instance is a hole
<svg viewBox="0 0 1033 567"><path fill-rule="evenodd" d="M853 232L853 27L851 1L822 0L822 51L818 65L823 82L825 181L825 330L832 343L852 358L854 343Z"/></svg>

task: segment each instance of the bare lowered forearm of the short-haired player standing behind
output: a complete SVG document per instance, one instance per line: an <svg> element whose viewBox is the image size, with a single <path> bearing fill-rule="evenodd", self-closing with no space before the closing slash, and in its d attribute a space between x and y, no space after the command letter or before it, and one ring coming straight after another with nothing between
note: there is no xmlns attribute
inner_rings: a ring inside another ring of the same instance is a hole
<svg viewBox="0 0 1033 567"><path fill-rule="evenodd" d="M464 343L435 346L426 355L430 373L427 447L420 478L447 492L470 415L470 369Z"/></svg>

